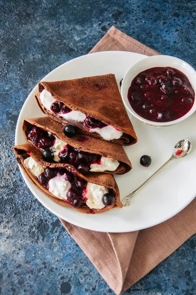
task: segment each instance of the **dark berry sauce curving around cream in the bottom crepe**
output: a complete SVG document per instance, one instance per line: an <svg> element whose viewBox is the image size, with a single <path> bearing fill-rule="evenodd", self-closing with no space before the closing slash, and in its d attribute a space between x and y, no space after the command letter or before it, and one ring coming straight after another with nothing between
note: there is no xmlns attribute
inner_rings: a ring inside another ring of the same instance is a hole
<svg viewBox="0 0 196 295"><path fill-rule="evenodd" d="M57 176L64 176L65 180L69 181L71 184L71 188L66 193L65 197L67 200L65 201L75 208L85 206L86 200L83 198L83 191L87 186L87 181L77 177L75 173L72 173L68 169L46 168L37 179L41 185L49 189L48 182L50 179Z"/></svg>

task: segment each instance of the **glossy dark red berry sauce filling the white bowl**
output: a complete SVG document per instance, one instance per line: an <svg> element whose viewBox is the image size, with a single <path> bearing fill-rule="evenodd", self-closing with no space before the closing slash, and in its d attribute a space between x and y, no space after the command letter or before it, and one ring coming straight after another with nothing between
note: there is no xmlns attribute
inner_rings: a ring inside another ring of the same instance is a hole
<svg viewBox="0 0 196 295"><path fill-rule="evenodd" d="M173 121L193 107L195 92L187 76L171 67L154 67L131 82L128 99L142 118L154 122Z"/></svg>

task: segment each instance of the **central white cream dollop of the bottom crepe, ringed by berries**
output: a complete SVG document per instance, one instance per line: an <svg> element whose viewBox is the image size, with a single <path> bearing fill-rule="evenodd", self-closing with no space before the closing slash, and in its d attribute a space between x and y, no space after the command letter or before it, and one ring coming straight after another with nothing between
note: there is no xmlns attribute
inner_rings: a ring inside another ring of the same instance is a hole
<svg viewBox="0 0 196 295"><path fill-rule="evenodd" d="M66 193L71 188L71 183L65 180L65 175L51 178L48 182L49 192L61 200L67 200Z"/></svg>

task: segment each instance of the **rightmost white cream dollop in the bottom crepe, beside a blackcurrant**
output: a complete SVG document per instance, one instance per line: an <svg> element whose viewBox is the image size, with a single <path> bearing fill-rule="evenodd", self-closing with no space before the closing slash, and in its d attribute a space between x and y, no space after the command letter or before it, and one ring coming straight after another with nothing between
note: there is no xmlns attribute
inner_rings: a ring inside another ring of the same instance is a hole
<svg viewBox="0 0 196 295"><path fill-rule="evenodd" d="M88 182L84 191L86 205L91 209L102 209L105 207L102 202L102 196L108 193L108 189L103 185Z"/></svg>

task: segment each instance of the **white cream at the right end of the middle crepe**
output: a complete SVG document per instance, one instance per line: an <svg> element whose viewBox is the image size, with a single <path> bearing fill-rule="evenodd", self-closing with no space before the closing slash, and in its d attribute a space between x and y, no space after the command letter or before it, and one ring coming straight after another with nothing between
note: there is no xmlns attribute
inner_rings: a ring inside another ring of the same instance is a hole
<svg viewBox="0 0 196 295"><path fill-rule="evenodd" d="M114 171L119 166L119 161L112 158L101 157L101 164L91 164L90 171L102 172L102 171Z"/></svg>

